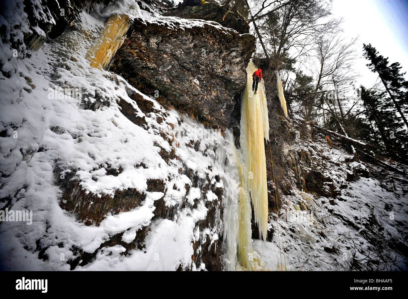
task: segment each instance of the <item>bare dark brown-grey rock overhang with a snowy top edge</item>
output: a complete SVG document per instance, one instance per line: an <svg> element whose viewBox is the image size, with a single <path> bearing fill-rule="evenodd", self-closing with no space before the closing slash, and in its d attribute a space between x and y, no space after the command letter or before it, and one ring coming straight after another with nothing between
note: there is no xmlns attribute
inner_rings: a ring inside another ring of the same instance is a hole
<svg viewBox="0 0 408 299"><path fill-rule="evenodd" d="M188 113L212 128L237 125L245 67L253 35L220 26L175 20L136 21L113 58L110 70L164 105Z"/></svg>

